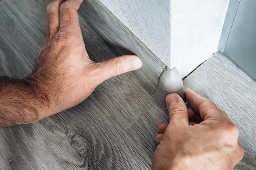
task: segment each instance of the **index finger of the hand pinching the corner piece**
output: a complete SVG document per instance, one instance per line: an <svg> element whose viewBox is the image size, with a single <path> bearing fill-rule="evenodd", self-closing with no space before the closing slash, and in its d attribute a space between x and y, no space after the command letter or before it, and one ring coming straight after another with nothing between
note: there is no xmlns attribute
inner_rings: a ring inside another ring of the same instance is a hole
<svg viewBox="0 0 256 170"><path fill-rule="evenodd" d="M200 113L201 119L205 120L205 116L209 115L209 117L214 116L216 114L222 114L218 107L210 100L199 96L197 93L190 89L186 89L186 100L192 106L192 108ZM209 118L208 117L208 118Z"/></svg>

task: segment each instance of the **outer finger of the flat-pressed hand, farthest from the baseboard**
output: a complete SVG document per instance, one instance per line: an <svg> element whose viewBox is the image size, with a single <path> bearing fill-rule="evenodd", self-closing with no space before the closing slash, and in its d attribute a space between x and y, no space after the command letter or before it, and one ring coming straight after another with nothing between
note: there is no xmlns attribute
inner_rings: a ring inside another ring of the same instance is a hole
<svg viewBox="0 0 256 170"><path fill-rule="evenodd" d="M53 0L47 5L47 16L48 16L48 31L49 37L47 40L52 40L52 37L57 33L59 29L59 8L61 3L65 0Z"/></svg>

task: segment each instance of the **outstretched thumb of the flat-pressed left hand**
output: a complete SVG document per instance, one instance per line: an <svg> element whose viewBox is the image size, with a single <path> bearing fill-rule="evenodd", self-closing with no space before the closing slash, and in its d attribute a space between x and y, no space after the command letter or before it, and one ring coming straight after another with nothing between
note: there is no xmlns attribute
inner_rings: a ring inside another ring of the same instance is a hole
<svg viewBox="0 0 256 170"><path fill-rule="evenodd" d="M100 84L111 77L141 68L142 62L135 55L125 55L96 63L96 65L97 76L95 78Z"/></svg>

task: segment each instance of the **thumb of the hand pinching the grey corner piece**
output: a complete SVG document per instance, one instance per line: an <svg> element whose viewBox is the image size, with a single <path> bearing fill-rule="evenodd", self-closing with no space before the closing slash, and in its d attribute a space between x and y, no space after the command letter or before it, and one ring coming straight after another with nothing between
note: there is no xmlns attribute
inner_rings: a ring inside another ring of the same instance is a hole
<svg viewBox="0 0 256 170"><path fill-rule="evenodd" d="M177 125L177 127L189 126L189 116L186 105L178 94L168 94L166 96L166 105L169 111L170 125Z"/></svg>

